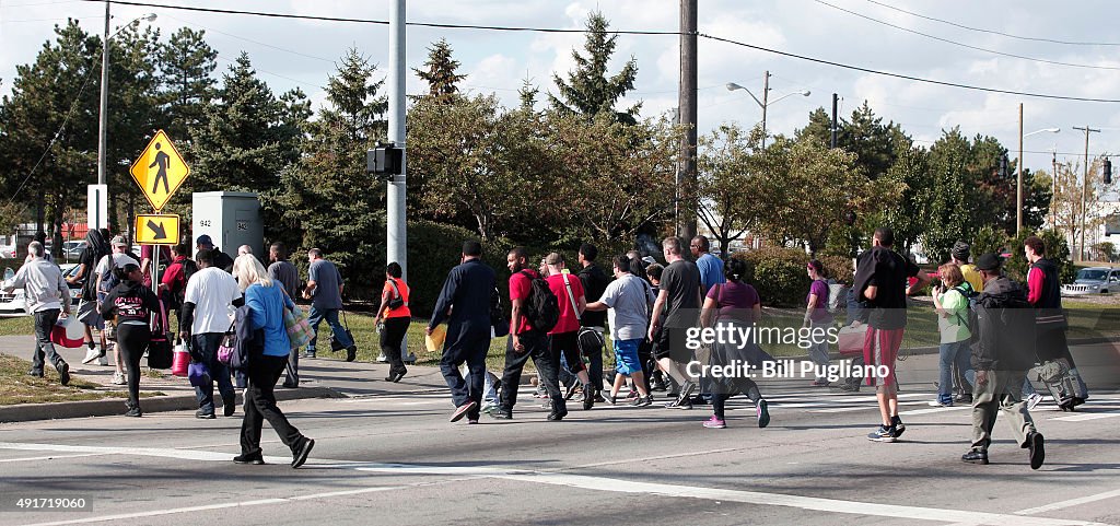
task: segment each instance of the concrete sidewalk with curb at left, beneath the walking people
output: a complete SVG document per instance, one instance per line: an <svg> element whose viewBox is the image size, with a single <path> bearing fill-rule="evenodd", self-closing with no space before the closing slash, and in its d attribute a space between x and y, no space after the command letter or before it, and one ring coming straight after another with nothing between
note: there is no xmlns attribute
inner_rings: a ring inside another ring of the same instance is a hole
<svg viewBox="0 0 1120 526"><path fill-rule="evenodd" d="M34 336L0 336L0 353L31 358L35 347ZM66 349L55 346L63 359L71 366L71 375L95 384L96 391L124 391L123 385L113 385L113 357L108 356L109 366L82 364L85 347ZM409 374L400 383L385 382L389 376L388 364L346 363L342 353L320 353L317 359L300 359L300 386L283 388L278 386L278 401L299 398L340 398L353 396L373 396L385 394L409 394L431 391L447 391L444 375L438 367L410 366ZM143 363L141 363L143 364ZM144 368L144 370L147 370ZM158 370L161 377L140 376L140 393L164 393L162 396L142 397L140 405L144 413L162 411L186 411L198 407L195 401L194 387L186 377L172 376L169 369ZM282 378L281 378L282 381ZM214 396L220 398L215 387ZM239 389L240 391L240 389ZM242 403L237 394L237 404ZM0 423L25 422L31 420L75 419L84 416L106 416L124 413L123 398L104 398L94 401L54 402L44 404L0 405ZM237 411L241 413L241 410Z"/></svg>

